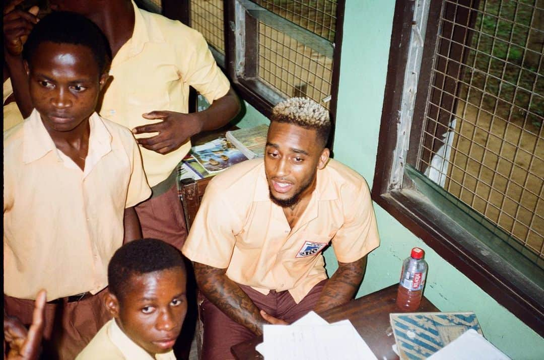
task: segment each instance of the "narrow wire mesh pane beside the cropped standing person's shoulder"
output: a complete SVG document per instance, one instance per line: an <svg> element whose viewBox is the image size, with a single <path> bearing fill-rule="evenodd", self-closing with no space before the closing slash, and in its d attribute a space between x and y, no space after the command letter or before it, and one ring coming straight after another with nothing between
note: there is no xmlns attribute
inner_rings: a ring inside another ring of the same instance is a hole
<svg viewBox="0 0 544 360"><path fill-rule="evenodd" d="M225 54L222 0L191 0L191 27L198 30L209 45Z"/></svg>

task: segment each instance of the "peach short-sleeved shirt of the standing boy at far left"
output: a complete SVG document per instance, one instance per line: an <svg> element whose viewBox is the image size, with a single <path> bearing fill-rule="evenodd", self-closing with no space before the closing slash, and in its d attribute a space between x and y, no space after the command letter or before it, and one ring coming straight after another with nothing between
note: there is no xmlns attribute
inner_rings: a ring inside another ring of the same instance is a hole
<svg viewBox="0 0 544 360"><path fill-rule="evenodd" d="M4 294L47 301L108 284L123 212L151 195L125 127L89 117L84 170L59 151L34 110L4 133Z"/></svg>

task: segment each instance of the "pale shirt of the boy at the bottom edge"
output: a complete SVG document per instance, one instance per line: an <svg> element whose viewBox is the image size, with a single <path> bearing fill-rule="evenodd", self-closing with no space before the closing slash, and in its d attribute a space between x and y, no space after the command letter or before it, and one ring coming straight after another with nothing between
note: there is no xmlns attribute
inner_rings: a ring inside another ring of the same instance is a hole
<svg viewBox="0 0 544 360"><path fill-rule="evenodd" d="M170 350L154 357L149 355L138 344L134 343L121 330L115 319L102 326L91 342L85 346L76 360L176 360L174 351Z"/></svg>

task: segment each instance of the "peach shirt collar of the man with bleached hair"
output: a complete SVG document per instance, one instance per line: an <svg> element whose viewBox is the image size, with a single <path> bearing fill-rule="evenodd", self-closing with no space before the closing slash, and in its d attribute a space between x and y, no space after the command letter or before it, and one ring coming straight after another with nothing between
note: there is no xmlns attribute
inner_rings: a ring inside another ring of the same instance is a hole
<svg viewBox="0 0 544 360"><path fill-rule="evenodd" d="M334 160L329 160L334 161ZM327 163L328 164L328 163ZM312 197L316 196L317 201L335 200L338 198L335 184L332 182L327 166L317 171L316 189L313 190ZM256 182L254 201L271 201L268 181L264 172L264 159L259 169L259 176Z"/></svg>

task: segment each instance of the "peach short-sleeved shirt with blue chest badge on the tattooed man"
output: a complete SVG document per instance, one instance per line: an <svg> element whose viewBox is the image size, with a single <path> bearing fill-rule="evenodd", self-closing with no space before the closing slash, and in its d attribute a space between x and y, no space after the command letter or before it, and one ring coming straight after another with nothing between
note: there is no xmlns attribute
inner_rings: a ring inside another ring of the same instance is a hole
<svg viewBox="0 0 544 360"><path fill-rule="evenodd" d="M268 294L289 290L300 302L327 278L323 248L351 263L380 240L368 185L331 159L300 219L290 228L270 200L264 160L248 160L215 176L206 188L182 252L194 262L227 269L228 278Z"/></svg>

